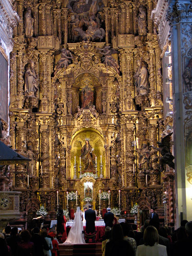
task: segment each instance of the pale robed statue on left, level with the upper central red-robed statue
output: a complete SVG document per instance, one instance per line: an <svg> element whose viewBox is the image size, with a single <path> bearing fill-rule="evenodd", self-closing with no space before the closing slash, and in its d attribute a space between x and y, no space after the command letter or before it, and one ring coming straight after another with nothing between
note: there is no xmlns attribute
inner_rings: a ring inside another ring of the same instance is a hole
<svg viewBox="0 0 192 256"><path fill-rule="evenodd" d="M36 96L38 91L38 76L35 72L34 62L26 65L25 72L25 93L29 96Z"/></svg>

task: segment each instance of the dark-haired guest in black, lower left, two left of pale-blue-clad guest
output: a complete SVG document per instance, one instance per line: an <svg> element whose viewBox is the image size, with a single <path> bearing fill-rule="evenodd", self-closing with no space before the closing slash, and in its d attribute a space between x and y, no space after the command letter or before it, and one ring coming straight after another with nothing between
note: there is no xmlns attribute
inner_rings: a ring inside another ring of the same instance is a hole
<svg viewBox="0 0 192 256"><path fill-rule="evenodd" d="M28 230L23 230L20 233L21 242L18 242L17 256L35 256L34 244L30 242L31 234Z"/></svg>

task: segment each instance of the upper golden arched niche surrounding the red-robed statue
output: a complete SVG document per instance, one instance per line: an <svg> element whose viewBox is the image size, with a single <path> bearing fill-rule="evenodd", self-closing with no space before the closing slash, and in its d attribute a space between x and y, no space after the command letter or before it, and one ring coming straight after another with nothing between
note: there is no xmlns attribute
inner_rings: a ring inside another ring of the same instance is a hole
<svg viewBox="0 0 192 256"><path fill-rule="evenodd" d="M81 108L81 90L82 88L88 87L92 89L94 94L94 102L97 112L101 113L101 97L102 97L102 85L99 82L99 78L96 77L94 74L84 72L80 73L73 83L72 86L72 115L77 112L77 107Z"/></svg>

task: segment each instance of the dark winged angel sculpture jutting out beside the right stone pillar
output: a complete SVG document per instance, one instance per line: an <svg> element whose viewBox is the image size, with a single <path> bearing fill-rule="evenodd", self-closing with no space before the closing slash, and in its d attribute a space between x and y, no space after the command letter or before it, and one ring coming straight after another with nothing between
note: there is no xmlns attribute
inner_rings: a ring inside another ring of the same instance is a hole
<svg viewBox="0 0 192 256"><path fill-rule="evenodd" d="M159 150L162 155L162 157L159 158L159 162L161 164L161 169L163 169L164 164L168 164L168 166L173 169L175 168L175 164L174 164L174 162L172 162L172 160L174 159L174 156L172 155L172 153L170 151L171 137L172 137L172 133L166 135L161 140L161 142L157 142L159 148L152 146L152 148Z"/></svg>

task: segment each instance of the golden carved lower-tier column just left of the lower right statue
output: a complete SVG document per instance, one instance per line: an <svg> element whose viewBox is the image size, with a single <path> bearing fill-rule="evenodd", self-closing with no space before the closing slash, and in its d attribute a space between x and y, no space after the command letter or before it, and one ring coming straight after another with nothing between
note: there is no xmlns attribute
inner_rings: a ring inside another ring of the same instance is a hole
<svg viewBox="0 0 192 256"><path fill-rule="evenodd" d="M135 186L135 172L133 172L133 164L135 160L134 147L134 127L133 123L126 123L126 187Z"/></svg>

